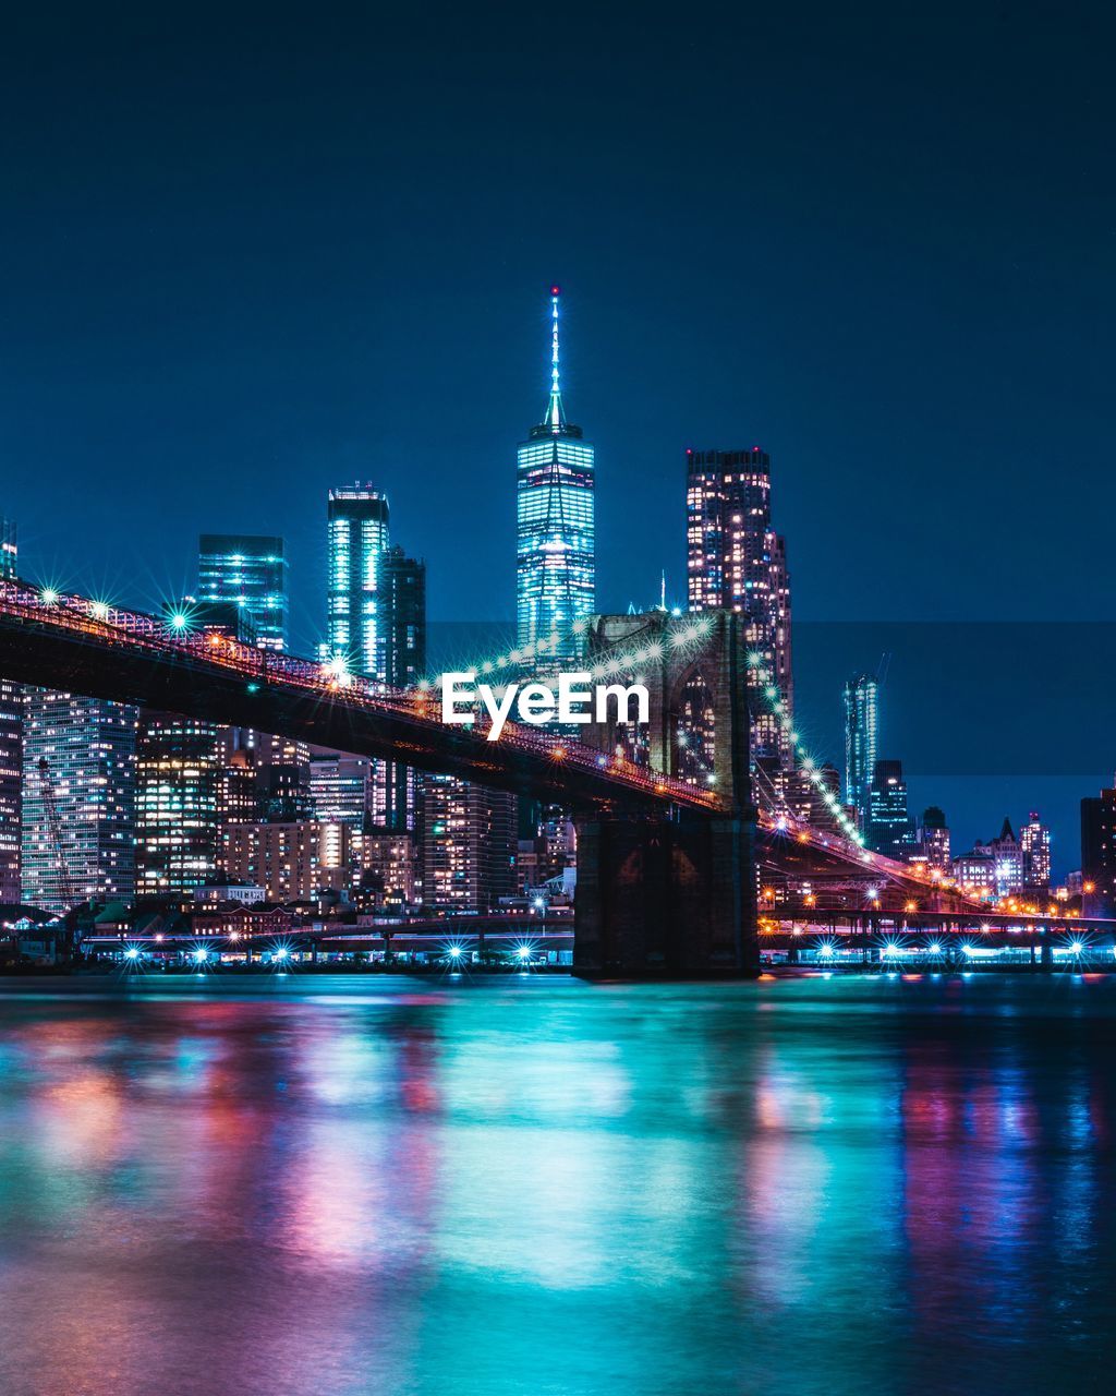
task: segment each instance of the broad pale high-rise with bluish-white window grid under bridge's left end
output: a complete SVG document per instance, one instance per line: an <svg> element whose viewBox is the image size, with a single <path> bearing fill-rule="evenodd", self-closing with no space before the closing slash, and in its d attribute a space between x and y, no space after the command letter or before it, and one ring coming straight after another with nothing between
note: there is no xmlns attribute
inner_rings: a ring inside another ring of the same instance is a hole
<svg viewBox="0 0 1116 1396"><path fill-rule="evenodd" d="M135 888L135 708L28 688L22 888L63 910Z"/></svg>

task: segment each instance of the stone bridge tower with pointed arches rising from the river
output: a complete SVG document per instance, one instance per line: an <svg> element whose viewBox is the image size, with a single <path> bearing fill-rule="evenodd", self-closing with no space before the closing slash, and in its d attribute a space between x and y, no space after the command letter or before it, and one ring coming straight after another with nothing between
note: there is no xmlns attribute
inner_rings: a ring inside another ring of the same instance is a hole
<svg viewBox="0 0 1116 1396"><path fill-rule="evenodd" d="M598 814L578 819L575 970L587 977L749 977L756 940L756 810L748 769L744 617L597 616L586 667L642 681L649 722L631 755L721 796L717 812ZM632 659L632 656L635 656ZM610 754L631 730L590 725Z"/></svg>

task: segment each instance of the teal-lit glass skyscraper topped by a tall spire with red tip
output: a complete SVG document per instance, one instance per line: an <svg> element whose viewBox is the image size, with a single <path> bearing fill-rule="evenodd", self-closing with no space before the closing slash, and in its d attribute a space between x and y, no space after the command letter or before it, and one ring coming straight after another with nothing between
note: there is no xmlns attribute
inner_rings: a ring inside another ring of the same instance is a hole
<svg viewBox="0 0 1116 1396"><path fill-rule="evenodd" d="M544 644L543 666L576 664L572 632L596 606L593 447L566 422L558 377L558 286L551 286L551 384L538 426L520 443L516 469L516 642L527 663Z"/></svg>

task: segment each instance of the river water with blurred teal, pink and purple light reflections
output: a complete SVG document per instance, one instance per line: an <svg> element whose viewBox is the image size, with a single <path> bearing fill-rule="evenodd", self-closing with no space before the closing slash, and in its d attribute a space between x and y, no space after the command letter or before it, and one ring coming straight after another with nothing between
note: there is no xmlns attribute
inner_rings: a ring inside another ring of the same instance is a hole
<svg viewBox="0 0 1116 1396"><path fill-rule="evenodd" d="M0 1389L1074 1390L1116 986L7 1000Z"/></svg>

